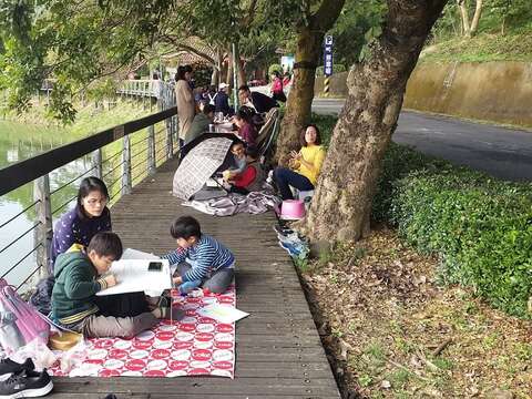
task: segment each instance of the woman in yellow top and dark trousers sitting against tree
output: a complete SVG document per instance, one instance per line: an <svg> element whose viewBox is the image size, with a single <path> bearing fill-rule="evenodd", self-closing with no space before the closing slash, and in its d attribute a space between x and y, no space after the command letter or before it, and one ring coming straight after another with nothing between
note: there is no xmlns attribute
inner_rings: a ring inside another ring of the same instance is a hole
<svg viewBox="0 0 532 399"><path fill-rule="evenodd" d="M308 125L299 136L301 150L290 153L289 166L276 167L274 180L283 200L293 200L290 186L300 190L314 190L325 160L319 130L315 124Z"/></svg>

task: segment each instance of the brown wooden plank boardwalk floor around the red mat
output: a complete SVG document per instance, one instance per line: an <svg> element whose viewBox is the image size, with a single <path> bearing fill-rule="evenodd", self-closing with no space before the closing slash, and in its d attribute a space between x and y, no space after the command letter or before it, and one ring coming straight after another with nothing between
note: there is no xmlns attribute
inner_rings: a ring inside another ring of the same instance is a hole
<svg viewBox="0 0 532 399"><path fill-rule="evenodd" d="M124 245L163 254L175 247L170 224L191 214L202 229L236 255L237 323L235 379L55 378L53 398L339 398L305 295L288 255L277 245L275 216L214 217L180 205L171 195L174 161L160 168L112 209Z"/></svg>

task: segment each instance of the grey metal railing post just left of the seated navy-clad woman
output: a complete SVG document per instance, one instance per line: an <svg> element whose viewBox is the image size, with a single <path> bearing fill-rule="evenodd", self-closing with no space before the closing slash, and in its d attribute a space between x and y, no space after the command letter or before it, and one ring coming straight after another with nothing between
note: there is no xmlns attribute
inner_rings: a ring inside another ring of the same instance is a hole
<svg viewBox="0 0 532 399"><path fill-rule="evenodd" d="M33 198L37 202L37 221L40 222L34 229L34 242L41 244L35 252L37 264L40 267L39 277L48 276L48 248L52 242L52 204L50 201L50 180L48 174L33 182Z"/></svg>

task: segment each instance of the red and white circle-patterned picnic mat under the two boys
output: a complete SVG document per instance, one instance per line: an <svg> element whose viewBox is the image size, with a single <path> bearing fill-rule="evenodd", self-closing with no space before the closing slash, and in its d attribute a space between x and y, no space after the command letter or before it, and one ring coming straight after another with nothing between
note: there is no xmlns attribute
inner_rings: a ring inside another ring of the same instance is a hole
<svg viewBox="0 0 532 399"><path fill-rule="evenodd" d="M218 323L197 311L212 304L235 307L235 286L223 295L175 298L185 310L180 321L162 320L152 330L132 339L94 338L85 341L86 358L68 374L59 362L49 371L70 377L180 377L222 376L234 378L235 324Z"/></svg>

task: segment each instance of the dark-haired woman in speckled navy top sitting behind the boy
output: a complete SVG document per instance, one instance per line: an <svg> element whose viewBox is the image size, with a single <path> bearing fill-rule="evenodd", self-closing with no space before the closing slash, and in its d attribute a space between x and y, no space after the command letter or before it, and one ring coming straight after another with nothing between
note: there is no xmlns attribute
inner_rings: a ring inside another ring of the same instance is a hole
<svg viewBox="0 0 532 399"><path fill-rule="evenodd" d="M75 207L55 223L50 248L50 272L53 272L58 255L73 244L88 246L96 233L112 229L108 202L108 187L100 178L90 176L81 181Z"/></svg>

